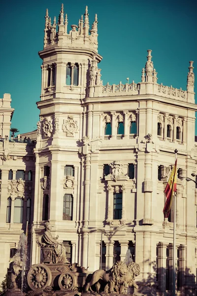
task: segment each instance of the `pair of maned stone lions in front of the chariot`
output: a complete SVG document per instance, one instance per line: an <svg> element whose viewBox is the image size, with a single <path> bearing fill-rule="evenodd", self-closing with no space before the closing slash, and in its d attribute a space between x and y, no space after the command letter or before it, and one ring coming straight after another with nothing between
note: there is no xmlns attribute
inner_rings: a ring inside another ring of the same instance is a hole
<svg viewBox="0 0 197 296"><path fill-rule="evenodd" d="M96 270L88 283L84 287L84 292L88 292L89 289L91 292L92 286L96 284L97 293L100 290L100 283L104 282L105 288L104 293L116 293L125 294L126 289L129 286L134 286L137 288L137 285L133 285L133 280L140 272L139 264L135 262L130 262L128 265L123 261L117 261L113 264L112 268L104 271L102 269Z"/></svg>

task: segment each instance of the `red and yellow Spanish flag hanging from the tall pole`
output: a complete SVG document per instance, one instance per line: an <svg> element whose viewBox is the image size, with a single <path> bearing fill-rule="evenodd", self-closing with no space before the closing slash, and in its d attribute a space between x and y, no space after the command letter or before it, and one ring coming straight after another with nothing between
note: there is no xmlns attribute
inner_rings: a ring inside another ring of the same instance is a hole
<svg viewBox="0 0 197 296"><path fill-rule="evenodd" d="M168 218L171 210L173 193L176 192L176 178L177 178L177 159L175 161L174 167L171 171L169 180L164 190L164 193L166 196L166 201L165 201L164 210L163 210L164 218Z"/></svg>

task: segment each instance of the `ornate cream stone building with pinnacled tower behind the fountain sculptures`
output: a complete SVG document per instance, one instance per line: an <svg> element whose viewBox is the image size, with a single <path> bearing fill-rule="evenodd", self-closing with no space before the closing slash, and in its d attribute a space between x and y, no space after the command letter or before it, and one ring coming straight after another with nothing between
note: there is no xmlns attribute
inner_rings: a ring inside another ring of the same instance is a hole
<svg viewBox="0 0 197 296"><path fill-rule="evenodd" d="M101 257L109 269L130 248L141 268L135 294L170 295L176 215L177 295L196 295L197 189L181 178L197 174L193 62L186 91L158 84L151 50L141 82L103 85L97 15L91 30L87 7L84 16L68 31L63 6L58 25L46 11L36 145L0 142L1 279L27 219L30 264L40 262L49 220L70 261L93 272ZM0 107L3 138L10 101ZM164 220L175 149L177 210Z"/></svg>

